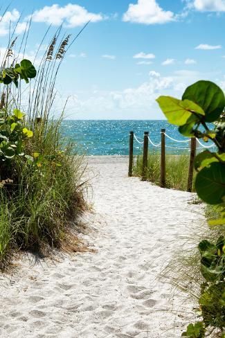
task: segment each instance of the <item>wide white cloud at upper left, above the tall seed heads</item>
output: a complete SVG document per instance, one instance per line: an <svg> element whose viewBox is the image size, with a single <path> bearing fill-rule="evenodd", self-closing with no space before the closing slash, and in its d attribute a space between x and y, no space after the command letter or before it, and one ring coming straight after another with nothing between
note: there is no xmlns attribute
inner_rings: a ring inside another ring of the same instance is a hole
<svg viewBox="0 0 225 338"><path fill-rule="evenodd" d="M64 24L68 28L82 26L89 20L91 22L98 22L105 19L101 13L88 12L86 8L72 3L64 7L60 7L57 4L45 6L40 10L36 10L32 17L35 22L44 22L53 26Z"/></svg>

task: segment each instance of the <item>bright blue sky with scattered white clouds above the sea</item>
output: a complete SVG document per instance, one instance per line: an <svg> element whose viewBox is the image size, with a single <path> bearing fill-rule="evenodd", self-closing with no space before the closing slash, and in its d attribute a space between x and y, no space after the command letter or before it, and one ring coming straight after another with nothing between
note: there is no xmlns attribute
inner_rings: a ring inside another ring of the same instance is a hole
<svg viewBox="0 0 225 338"><path fill-rule="evenodd" d="M55 114L69 98L69 119L162 119L156 98L181 98L197 80L225 89L225 0L0 0L0 51L8 31L32 25L26 55L32 61L62 25L72 38L57 79ZM6 14L1 18L1 13Z"/></svg>

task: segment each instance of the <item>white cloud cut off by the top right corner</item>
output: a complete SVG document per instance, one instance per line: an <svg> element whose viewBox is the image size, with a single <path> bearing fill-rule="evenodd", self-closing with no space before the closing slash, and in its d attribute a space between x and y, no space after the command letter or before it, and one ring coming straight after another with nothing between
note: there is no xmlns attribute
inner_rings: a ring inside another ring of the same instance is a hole
<svg viewBox="0 0 225 338"><path fill-rule="evenodd" d="M194 0L188 1L188 8L200 12L225 12L225 0Z"/></svg>

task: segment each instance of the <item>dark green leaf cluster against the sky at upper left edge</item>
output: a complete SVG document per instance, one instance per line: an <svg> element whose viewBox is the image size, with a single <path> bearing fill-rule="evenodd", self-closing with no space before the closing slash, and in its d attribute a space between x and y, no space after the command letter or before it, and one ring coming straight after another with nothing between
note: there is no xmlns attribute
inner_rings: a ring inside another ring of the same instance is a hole
<svg viewBox="0 0 225 338"><path fill-rule="evenodd" d="M36 75L37 71L35 66L33 66L29 60L24 59L20 64L12 65L0 71L0 83L10 84L14 82L15 86L18 87L19 79L25 80L25 82L28 83L29 79L35 78Z"/></svg>

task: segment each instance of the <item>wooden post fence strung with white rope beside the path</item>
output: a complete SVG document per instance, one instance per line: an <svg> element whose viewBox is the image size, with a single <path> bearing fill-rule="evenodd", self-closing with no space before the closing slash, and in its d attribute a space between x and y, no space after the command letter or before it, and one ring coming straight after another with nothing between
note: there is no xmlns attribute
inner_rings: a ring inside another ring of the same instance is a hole
<svg viewBox="0 0 225 338"><path fill-rule="evenodd" d="M165 139L169 139L176 143L185 143L182 147L177 147L174 145L167 145ZM147 155L148 155L148 145L152 145L154 148L161 148L161 187L165 188L165 149L174 149L174 150L188 150L190 152L190 163L189 163L189 170L188 170L188 184L187 184L187 191L192 191L192 181L193 181L193 174L194 174L194 161L197 150L201 149L210 149L215 147L214 144L212 145L204 145L199 141L199 139L192 137L191 139L187 140L177 140L174 139L172 136L166 134L165 129L161 129L161 142L154 143L152 139L150 139L149 132L144 132L143 139L139 138L134 134L134 132L129 132L129 177L133 174L133 157L134 157L134 140L138 143L143 145L143 167L142 167L142 179L145 181L146 178L146 171L147 171ZM187 147L187 143L190 143L190 146ZM197 147L198 143L198 147Z"/></svg>

